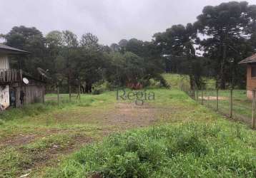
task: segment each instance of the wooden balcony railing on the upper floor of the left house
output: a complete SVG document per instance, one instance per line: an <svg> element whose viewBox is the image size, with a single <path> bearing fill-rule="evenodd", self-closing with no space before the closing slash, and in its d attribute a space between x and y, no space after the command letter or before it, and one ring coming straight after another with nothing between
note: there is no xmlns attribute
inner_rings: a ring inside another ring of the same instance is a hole
<svg viewBox="0 0 256 178"><path fill-rule="evenodd" d="M21 81L22 71L16 69L0 69L0 84L14 83Z"/></svg>

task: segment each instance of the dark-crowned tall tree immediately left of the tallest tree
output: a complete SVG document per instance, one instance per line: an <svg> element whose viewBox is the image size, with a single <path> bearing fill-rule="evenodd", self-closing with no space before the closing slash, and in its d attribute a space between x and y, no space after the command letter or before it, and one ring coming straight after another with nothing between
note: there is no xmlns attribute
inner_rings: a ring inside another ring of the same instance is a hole
<svg viewBox="0 0 256 178"><path fill-rule="evenodd" d="M174 25L163 33L154 34L154 43L166 60L172 61L177 57L186 59L184 73L189 75L191 88L195 85L201 87L201 76L195 75L195 65L193 65L197 59L194 47L196 39L197 30L191 23L187 26Z"/></svg>

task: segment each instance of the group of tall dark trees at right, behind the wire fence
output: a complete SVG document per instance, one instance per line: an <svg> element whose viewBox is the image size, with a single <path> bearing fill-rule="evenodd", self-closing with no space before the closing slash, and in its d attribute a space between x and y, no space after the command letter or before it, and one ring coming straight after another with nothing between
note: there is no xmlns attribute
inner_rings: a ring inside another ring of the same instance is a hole
<svg viewBox="0 0 256 178"><path fill-rule="evenodd" d="M256 6L246 1L205 6L195 23L156 33L155 43L168 56L167 70L187 73L192 87L201 87L202 75L215 78L220 88L245 86L245 68L237 63L255 53L255 15Z"/></svg>

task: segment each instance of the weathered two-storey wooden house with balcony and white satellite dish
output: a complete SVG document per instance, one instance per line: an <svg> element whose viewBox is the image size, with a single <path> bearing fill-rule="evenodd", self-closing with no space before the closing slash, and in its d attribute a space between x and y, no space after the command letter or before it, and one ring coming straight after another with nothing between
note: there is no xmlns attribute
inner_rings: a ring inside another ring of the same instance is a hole
<svg viewBox="0 0 256 178"><path fill-rule="evenodd" d="M28 54L27 51L0 44L0 110L44 102L45 82L33 78L21 68L10 66L11 56L16 56L19 60L19 57Z"/></svg>

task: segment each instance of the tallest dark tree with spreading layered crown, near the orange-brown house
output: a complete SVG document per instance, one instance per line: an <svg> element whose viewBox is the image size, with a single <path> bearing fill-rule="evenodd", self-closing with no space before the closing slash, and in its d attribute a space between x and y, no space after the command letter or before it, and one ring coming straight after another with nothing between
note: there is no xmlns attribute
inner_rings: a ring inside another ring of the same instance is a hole
<svg viewBox="0 0 256 178"><path fill-rule="evenodd" d="M245 42L245 28L249 22L247 8L248 4L245 1L231 1L219 6L206 6L197 17L196 24L200 33L208 37L202 41L205 56L217 60L213 62L220 88L226 87L230 68L235 65L234 62L237 63L237 60L241 59L237 58L241 51L235 44Z"/></svg>

